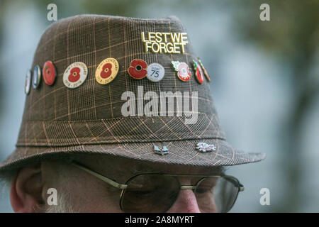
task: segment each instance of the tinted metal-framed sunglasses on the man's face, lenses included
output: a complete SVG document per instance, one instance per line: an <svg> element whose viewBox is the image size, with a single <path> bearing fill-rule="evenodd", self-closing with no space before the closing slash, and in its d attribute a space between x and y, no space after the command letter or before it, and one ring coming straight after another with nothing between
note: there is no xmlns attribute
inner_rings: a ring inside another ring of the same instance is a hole
<svg viewBox="0 0 319 227"><path fill-rule="evenodd" d="M228 175L168 175L143 173L120 184L100 175L78 162L72 165L121 189L120 207L124 212L162 213L174 204L181 189L193 190L201 212L228 212L244 187L238 179ZM191 177L192 185L181 185L178 177Z"/></svg>

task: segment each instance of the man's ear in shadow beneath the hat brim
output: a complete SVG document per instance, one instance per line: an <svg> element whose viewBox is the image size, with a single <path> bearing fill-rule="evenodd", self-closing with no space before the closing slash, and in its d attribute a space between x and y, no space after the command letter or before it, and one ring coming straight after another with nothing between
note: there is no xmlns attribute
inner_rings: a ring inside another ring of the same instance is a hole
<svg viewBox="0 0 319 227"><path fill-rule="evenodd" d="M42 192L41 164L23 167L11 183L10 201L13 211L17 213L40 211L44 204Z"/></svg>

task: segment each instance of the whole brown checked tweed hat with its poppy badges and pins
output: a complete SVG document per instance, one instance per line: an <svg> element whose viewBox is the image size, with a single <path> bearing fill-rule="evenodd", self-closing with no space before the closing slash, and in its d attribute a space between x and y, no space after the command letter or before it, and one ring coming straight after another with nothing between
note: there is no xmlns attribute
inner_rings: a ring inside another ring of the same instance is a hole
<svg viewBox="0 0 319 227"><path fill-rule="evenodd" d="M194 166L265 157L226 142L211 79L174 16L52 23L26 78L16 150L0 170L78 153Z"/></svg>

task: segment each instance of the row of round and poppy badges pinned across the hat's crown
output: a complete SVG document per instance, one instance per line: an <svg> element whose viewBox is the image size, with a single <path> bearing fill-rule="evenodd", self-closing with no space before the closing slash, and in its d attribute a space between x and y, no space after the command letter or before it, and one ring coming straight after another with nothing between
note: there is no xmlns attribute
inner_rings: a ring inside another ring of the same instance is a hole
<svg viewBox="0 0 319 227"><path fill-rule="evenodd" d="M189 65L185 62L172 61L172 66L177 72L177 77L183 82L189 81L191 79L191 71L189 70ZM193 60L193 67L195 71L195 77L198 83L202 84L204 81L204 75L208 82L211 81L205 67L198 58L198 62ZM118 61L113 57L108 57L103 60L99 66L96 68L95 78L96 82L99 84L108 84L111 82L118 74ZM83 62L74 62L67 67L63 74L63 83L66 87L76 88L82 85L86 79L88 70ZM152 82L159 82L163 79L165 70L159 63L152 63L147 66L147 62L141 59L135 59L130 62L130 67L128 67L128 74L134 79L142 79L147 77ZM39 84L41 77L45 84L52 85L57 77L57 70L55 65L51 61L45 62L43 69L40 69L39 65L36 65L33 69L28 70L26 74L26 87L25 93L30 93L30 87L32 83L33 89L36 89Z"/></svg>

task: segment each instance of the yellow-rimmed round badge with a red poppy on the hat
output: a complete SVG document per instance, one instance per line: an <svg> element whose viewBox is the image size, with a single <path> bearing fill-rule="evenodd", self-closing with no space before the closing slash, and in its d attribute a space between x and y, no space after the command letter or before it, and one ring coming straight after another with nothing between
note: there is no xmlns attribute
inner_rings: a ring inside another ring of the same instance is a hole
<svg viewBox="0 0 319 227"><path fill-rule="evenodd" d="M118 74L118 61L113 57L104 59L95 71L95 79L99 84L108 84Z"/></svg>

